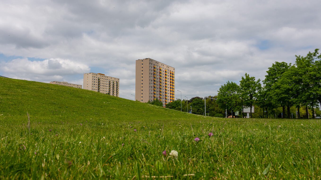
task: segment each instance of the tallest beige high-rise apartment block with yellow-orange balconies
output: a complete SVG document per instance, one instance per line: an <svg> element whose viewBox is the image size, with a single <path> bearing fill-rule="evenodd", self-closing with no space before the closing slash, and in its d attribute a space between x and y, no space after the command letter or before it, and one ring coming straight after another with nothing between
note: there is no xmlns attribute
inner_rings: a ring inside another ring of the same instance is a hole
<svg viewBox="0 0 321 180"><path fill-rule="evenodd" d="M175 68L150 58L136 60L135 98L140 102L156 99L166 106L175 100Z"/></svg>

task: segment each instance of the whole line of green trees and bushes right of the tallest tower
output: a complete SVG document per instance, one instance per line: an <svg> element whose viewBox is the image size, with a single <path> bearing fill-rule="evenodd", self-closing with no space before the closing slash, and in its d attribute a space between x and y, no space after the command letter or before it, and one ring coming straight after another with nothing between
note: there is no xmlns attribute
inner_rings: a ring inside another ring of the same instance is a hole
<svg viewBox="0 0 321 180"><path fill-rule="evenodd" d="M244 117L244 109L255 107L250 117L315 118L320 116L321 54L319 49L306 56L295 56L294 64L275 62L262 81L245 73L239 84L227 81L215 96L206 98L206 115L213 117ZM182 100L182 111L204 115L204 98ZM156 103L156 102L155 102ZM181 110L181 100L170 102L166 108ZM251 109L251 108L250 108ZM252 110L252 109L251 109ZM294 114L294 117L293 117ZM311 116L312 115L312 116ZM236 116L237 117L237 116Z"/></svg>

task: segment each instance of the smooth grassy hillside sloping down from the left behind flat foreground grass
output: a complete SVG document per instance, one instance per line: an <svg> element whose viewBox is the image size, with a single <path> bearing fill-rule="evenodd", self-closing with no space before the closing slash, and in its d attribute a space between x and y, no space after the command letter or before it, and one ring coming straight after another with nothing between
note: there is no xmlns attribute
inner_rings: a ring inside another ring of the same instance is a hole
<svg viewBox="0 0 321 180"><path fill-rule="evenodd" d="M32 120L166 120L200 119L146 103L84 89L35 81L0 78L0 112Z"/></svg>

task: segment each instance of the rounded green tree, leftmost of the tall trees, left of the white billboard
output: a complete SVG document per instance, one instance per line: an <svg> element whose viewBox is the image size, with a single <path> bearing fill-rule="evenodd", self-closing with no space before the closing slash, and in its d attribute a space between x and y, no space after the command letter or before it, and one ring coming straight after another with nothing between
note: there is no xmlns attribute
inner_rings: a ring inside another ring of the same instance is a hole
<svg viewBox="0 0 321 180"><path fill-rule="evenodd" d="M240 95L239 95L239 86L234 82L226 82L226 84L220 87L220 90L217 94L217 104L221 109L239 110L240 104Z"/></svg>

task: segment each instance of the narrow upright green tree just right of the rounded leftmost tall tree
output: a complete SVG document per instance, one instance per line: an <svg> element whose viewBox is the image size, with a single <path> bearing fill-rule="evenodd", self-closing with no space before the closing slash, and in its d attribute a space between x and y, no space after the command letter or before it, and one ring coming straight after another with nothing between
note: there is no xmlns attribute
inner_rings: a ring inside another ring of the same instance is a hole
<svg viewBox="0 0 321 180"><path fill-rule="evenodd" d="M250 117L252 118L252 107L255 104L257 92L261 89L260 79L256 81L255 77L250 77L247 73L245 73L245 78L242 76L239 87L243 104L246 107L250 107ZM242 113L243 111L244 106L242 106Z"/></svg>

